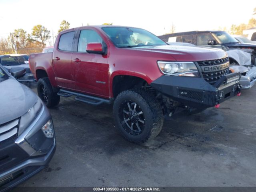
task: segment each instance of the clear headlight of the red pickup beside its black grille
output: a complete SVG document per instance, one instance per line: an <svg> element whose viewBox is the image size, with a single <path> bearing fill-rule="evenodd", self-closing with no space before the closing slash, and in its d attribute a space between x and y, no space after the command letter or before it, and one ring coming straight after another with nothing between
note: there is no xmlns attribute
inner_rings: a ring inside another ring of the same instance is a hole
<svg viewBox="0 0 256 192"><path fill-rule="evenodd" d="M194 62L157 62L160 70L166 75L199 77L199 72Z"/></svg>

